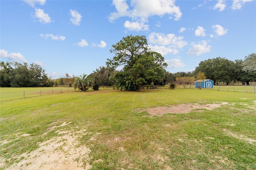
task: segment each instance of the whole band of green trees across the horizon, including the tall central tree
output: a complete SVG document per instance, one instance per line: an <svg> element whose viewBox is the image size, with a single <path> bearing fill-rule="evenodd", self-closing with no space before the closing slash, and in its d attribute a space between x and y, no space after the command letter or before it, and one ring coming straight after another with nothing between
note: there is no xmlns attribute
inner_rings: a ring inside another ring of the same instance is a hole
<svg viewBox="0 0 256 170"><path fill-rule="evenodd" d="M252 53L244 60L230 61L216 57L201 61L192 72L170 73L165 70L167 63L160 53L151 51L145 36L127 36L112 45L110 53L112 59L107 59L106 66L99 67L90 75L82 74L78 77L68 75L52 80L47 77L45 70L34 63L6 62L0 63L1 87L50 87L73 86L75 89L86 91L89 87L98 89L100 86L114 86L116 89L136 91L144 86L165 85L177 82L190 85L199 76L214 81L235 83L256 81L256 54ZM117 71L117 68L119 71Z"/></svg>

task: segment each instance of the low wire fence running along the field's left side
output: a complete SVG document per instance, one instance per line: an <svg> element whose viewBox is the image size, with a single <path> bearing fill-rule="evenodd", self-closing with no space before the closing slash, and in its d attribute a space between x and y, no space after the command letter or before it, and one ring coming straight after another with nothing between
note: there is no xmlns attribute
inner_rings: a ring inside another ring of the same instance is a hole
<svg viewBox="0 0 256 170"><path fill-rule="evenodd" d="M0 101L10 101L16 99L25 99L30 97L38 97L43 95L53 95L57 93L66 93L69 91L74 91L74 88L63 87L54 89L38 89L38 90L28 90L28 91L12 91L12 92L1 92Z"/></svg>

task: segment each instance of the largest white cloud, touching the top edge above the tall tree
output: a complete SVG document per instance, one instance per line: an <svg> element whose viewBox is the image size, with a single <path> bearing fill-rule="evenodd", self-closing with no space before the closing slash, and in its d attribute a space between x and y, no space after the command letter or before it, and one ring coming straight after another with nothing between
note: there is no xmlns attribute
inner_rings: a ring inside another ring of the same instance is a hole
<svg viewBox="0 0 256 170"><path fill-rule="evenodd" d="M175 5L173 0L158 0L158 1L143 1L132 0L129 1L130 6L126 0L113 0L113 5L116 7L116 12L112 12L108 17L110 22L120 17L129 17L132 21L126 21L124 26L130 30L148 30L148 22L150 16L164 16L169 14L174 16L174 20L180 20L182 13L180 8Z"/></svg>

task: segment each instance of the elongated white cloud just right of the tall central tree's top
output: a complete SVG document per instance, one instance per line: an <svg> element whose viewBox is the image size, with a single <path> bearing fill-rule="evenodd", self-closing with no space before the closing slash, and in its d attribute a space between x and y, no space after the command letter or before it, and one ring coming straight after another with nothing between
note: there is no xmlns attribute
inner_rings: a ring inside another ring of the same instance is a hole
<svg viewBox="0 0 256 170"><path fill-rule="evenodd" d="M182 48L188 44L186 41L183 41L183 38L184 37L182 36L176 37L175 34L164 35L163 33L156 32L153 32L148 36L150 43L157 45L170 45L170 47L174 48Z"/></svg>

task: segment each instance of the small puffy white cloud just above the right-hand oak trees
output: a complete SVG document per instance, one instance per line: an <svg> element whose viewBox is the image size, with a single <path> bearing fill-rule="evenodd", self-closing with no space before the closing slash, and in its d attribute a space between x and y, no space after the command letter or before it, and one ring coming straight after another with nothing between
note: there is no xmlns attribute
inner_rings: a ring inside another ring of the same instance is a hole
<svg viewBox="0 0 256 170"><path fill-rule="evenodd" d="M211 51L211 46L207 45L206 41L201 41L198 44L192 42L192 48L189 49L187 55L200 55Z"/></svg>

